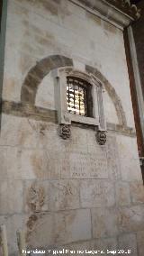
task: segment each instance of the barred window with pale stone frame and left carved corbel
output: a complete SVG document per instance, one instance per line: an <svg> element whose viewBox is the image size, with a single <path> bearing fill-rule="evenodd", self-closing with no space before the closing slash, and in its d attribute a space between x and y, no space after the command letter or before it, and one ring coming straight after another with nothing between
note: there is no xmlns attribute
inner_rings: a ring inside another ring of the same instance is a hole
<svg viewBox="0 0 144 256"><path fill-rule="evenodd" d="M73 68L53 70L56 78L58 124L63 139L70 136L70 125L91 125L105 133L103 85L93 75Z"/></svg>

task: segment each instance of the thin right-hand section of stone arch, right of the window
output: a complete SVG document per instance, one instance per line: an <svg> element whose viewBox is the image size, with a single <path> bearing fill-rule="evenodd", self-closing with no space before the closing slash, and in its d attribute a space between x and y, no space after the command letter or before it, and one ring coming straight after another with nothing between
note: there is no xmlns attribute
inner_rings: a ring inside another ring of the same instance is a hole
<svg viewBox="0 0 144 256"><path fill-rule="evenodd" d="M108 95L112 99L112 103L115 107L116 114L118 116L119 124L121 124L123 127L127 127L126 116L125 116L123 107L121 105L121 99L117 95L115 89L112 87L112 85L109 83L109 81L106 78L104 78L104 76L102 75L102 73L98 69L86 65L85 70L88 73L93 74L94 77L98 78L99 80L101 80L103 82L103 85L104 85Z"/></svg>

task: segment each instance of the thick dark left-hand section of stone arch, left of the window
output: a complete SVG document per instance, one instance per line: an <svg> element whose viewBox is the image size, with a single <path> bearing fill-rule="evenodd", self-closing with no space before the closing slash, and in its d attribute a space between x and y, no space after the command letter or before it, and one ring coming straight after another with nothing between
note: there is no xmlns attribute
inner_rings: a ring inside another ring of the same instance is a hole
<svg viewBox="0 0 144 256"><path fill-rule="evenodd" d="M61 55L51 55L45 59L40 59L37 64L30 69L23 82L21 90L21 102L35 104L35 97L42 79L49 74L52 69L73 66L73 60Z"/></svg>

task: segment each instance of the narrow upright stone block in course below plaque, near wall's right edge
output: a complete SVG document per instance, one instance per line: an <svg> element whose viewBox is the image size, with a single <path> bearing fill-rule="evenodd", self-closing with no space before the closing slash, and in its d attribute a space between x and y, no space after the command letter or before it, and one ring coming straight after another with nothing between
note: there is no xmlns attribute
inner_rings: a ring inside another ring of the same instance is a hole
<svg viewBox="0 0 144 256"><path fill-rule="evenodd" d="M118 206L130 206L130 185L127 182L117 182L116 189L116 203Z"/></svg>

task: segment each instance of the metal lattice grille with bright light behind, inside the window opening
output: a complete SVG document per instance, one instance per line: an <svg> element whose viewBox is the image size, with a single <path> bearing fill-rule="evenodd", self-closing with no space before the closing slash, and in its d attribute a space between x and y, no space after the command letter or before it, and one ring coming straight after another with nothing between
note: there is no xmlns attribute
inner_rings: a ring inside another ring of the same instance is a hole
<svg viewBox="0 0 144 256"><path fill-rule="evenodd" d="M87 84L80 78L67 77L67 111L87 116Z"/></svg>

